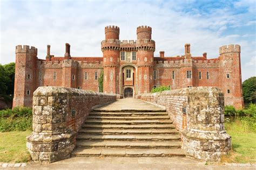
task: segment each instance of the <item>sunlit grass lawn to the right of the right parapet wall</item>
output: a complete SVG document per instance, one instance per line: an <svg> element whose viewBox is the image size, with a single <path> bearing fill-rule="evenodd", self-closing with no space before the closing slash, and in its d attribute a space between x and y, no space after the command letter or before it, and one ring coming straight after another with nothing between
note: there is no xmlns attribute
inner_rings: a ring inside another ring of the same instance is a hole
<svg viewBox="0 0 256 170"><path fill-rule="evenodd" d="M256 163L256 133L240 121L226 122L225 129L232 137L232 151L223 162Z"/></svg>

